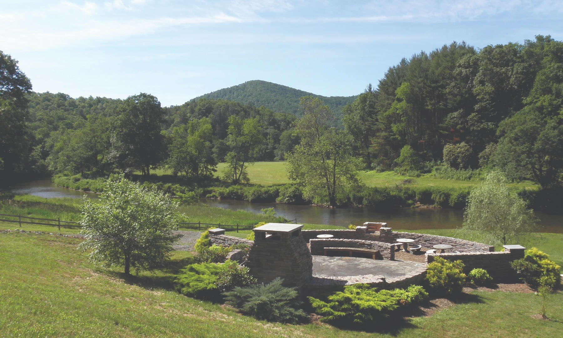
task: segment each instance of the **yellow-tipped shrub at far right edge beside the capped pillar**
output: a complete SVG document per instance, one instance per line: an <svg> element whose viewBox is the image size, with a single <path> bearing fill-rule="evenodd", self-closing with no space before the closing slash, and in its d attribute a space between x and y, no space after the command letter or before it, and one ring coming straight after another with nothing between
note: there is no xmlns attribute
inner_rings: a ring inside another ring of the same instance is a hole
<svg viewBox="0 0 563 338"><path fill-rule="evenodd" d="M534 289L540 286L542 277L547 277L543 279L544 282L553 281L552 288L561 283L561 266L549 260L549 256L537 248L531 248L524 258L513 261L511 265L520 278Z"/></svg>

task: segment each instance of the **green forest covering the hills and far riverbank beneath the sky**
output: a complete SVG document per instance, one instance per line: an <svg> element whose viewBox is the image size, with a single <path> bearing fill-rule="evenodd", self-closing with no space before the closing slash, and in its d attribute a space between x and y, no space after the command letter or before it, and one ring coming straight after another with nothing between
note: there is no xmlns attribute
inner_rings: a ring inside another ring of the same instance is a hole
<svg viewBox="0 0 563 338"><path fill-rule="evenodd" d="M420 52L352 97L249 81L162 107L145 93L74 99L32 89L17 61L0 52L3 186L115 172L149 179L158 168L193 190L248 183L249 163L288 161L290 188L300 192L285 194L287 201L338 206L367 205L375 194L358 182L358 170L471 180L499 169L539 185L539 204L563 210L563 42L549 35ZM312 163L319 165L308 170Z"/></svg>

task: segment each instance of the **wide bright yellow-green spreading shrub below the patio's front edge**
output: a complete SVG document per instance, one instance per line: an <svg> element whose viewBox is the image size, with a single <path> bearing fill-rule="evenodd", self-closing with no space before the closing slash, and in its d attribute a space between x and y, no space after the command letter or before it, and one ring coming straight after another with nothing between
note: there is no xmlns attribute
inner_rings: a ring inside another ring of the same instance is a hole
<svg viewBox="0 0 563 338"><path fill-rule="evenodd" d="M328 303L314 297L309 297L309 301L315 311L323 315L321 321L350 325L381 321L397 308L419 303L427 297L428 293L421 286L377 291L368 284L353 284L328 296Z"/></svg>

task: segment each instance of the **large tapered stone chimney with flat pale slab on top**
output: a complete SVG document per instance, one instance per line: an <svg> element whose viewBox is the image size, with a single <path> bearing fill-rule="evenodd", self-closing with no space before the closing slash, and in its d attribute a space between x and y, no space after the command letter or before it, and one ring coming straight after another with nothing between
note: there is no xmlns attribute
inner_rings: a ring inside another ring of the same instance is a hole
<svg viewBox="0 0 563 338"><path fill-rule="evenodd" d="M268 223L254 231L254 245L247 266L258 282L276 277L284 284L301 286L312 276L312 256L303 238L302 224Z"/></svg>

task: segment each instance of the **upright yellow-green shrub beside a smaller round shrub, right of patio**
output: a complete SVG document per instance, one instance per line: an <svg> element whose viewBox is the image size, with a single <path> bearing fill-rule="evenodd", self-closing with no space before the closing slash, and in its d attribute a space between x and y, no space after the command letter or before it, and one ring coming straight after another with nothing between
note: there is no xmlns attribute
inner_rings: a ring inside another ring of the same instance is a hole
<svg viewBox="0 0 563 338"><path fill-rule="evenodd" d="M428 284L436 290L449 294L461 292L466 278L463 266L461 260L452 262L436 257L432 263L428 264L426 272Z"/></svg>

